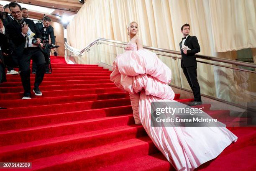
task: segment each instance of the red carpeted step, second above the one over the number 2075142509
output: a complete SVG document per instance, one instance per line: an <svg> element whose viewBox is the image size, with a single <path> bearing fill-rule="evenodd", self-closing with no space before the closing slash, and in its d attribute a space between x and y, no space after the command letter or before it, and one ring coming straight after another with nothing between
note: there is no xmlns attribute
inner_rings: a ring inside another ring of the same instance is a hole
<svg viewBox="0 0 256 171"><path fill-rule="evenodd" d="M0 130L13 130L67 123L79 120L94 119L99 117L127 115L133 113L131 105L105 107L101 109L80 110L75 112L62 112L55 114L35 115L28 117L14 117L0 120Z"/></svg>

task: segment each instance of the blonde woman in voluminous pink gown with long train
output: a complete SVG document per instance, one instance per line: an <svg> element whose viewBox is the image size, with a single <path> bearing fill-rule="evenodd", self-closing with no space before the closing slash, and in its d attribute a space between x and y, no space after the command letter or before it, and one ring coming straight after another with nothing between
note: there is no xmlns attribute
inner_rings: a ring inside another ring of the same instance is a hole
<svg viewBox="0 0 256 171"><path fill-rule="evenodd" d="M130 23L130 42L116 57L110 79L129 92L136 124L142 124L156 147L177 171L193 171L216 158L238 138L225 127L151 126L151 102L173 102L168 86L171 70L156 56L142 48L138 24Z"/></svg>

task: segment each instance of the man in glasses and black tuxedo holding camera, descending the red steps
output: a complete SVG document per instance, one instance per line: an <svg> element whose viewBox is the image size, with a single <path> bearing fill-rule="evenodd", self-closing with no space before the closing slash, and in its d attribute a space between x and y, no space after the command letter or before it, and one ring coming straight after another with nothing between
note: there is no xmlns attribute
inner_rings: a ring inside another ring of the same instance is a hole
<svg viewBox="0 0 256 171"><path fill-rule="evenodd" d="M17 57L20 67L20 78L24 88L24 96L22 99L31 99L30 87L30 60L36 62L37 71L33 92L37 96L41 96L42 92L39 85L44 79L44 54L38 47L41 42L41 33L36 28L32 20L22 17L21 6L18 3L11 2L9 8L14 17L13 22L7 25L7 32L10 40L15 46L13 54Z"/></svg>

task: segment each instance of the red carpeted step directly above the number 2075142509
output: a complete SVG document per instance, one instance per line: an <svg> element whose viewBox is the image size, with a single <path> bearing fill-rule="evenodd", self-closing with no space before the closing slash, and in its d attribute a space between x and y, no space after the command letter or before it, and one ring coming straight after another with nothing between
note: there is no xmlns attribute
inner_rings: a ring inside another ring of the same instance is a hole
<svg viewBox="0 0 256 171"><path fill-rule="evenodd" d="M78 151L95 146L146 136L142 125L120 127L72 134L47 140L37 140L22 145L0 147L0 161L31 161L61 153ZM42 150L44 149L44 150Z"/></svg>

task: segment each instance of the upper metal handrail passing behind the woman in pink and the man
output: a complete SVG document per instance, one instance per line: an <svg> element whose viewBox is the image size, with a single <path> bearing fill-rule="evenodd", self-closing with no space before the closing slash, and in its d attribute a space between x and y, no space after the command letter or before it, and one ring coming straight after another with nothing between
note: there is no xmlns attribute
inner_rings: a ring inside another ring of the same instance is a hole
<svg viewBox="0 0 256 171"><path fill-rule="evenodd" d="M127 45L127 42L123 42L123 41L115 41L115 40L110 40L110 39L106 39L106 38L97 38L95 41L93 41L88 46L86 46L84 49L82 49L80 51L79 55L81 55L82 53L87 51L87 49L89 49L91 46L93 46L98 41L107 41L107 42L111 42L111 43L118 43L118 44ZM169 53L169 54L181 55L180 51L172 51L172 50L164 49L164 48L155 48L155 47L150 47L150 46L143 46L143 48L153 50L153 51L161 51L161 52L165 52L165 53ZM207 60L210 60L210 61L223 62L223 63L226 63L226 64L233 64L233 65L247 66L247 67L251 67L251 68L256 68L256 64L247 63L247 62L243 62L243 61L235 61L235 60L223 59L223 58L218 58L218 57L213 57L213 56L205 56L205 55L196 55L196 57L200 58L200 59L207 59ZM223 66L223 67L226 67L226 66ZM245 70L245 71L248 71L248 70ZM253 72L253 73L255 73L255 72Z"/></svg>

